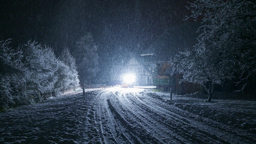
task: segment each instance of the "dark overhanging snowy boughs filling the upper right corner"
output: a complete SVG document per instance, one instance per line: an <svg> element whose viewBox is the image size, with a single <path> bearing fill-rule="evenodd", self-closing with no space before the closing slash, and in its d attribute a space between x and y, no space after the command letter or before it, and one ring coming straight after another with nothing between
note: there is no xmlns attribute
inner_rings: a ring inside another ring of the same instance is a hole
<svg viewBox="0 0 256 144"><path fill-rule="evenodd" d="M242 89L256 72L255 5L252 0L197 0L188 7L190 17L203 24L197 49L216 49L222 62L228 62L222 71L240 73Z"/></svg>

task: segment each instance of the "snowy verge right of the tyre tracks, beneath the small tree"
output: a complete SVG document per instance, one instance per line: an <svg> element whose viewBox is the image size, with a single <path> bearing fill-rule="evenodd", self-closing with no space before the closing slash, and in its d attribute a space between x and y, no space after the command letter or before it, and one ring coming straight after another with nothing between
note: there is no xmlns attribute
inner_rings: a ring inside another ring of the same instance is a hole
<svg viewBox="0 0 256 144"><path fill-rule="evenodd" d="M172 95L172 101L169 101L169 93L150 91L148 94L187 112L256 134L256 101L212 100L208 102L206 99L184 95Z"/></svg>

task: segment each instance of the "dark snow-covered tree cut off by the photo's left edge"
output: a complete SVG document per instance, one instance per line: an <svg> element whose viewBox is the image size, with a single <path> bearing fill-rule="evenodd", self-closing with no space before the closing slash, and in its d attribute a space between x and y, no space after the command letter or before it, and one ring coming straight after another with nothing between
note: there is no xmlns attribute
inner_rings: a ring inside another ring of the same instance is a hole
<svg viewBox="0 0 256 144"><path fill-rule="evenodd" d="M0 41L0 108L9 108L22 103L23 63L22 51L10 46L11 40Z"/></svg>

